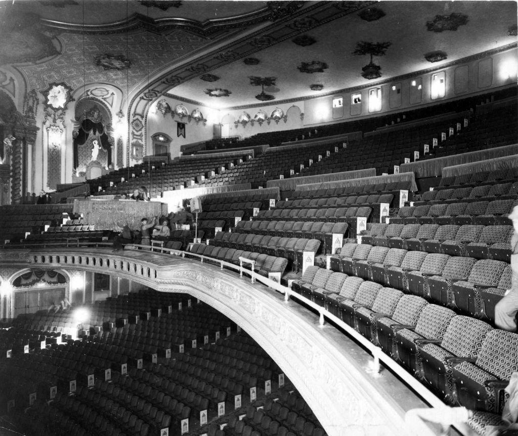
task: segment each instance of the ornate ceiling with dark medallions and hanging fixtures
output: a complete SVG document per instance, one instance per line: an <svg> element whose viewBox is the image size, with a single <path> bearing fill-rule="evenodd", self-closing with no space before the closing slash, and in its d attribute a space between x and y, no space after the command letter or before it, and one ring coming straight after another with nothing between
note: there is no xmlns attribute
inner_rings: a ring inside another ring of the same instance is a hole
<svg viewBox="0 0 518 436"><path fill-rule="evenodd" d="M0 0L0 68L28 90L97 82L240 107L516 45L516 21L513 1Z"/></svg>

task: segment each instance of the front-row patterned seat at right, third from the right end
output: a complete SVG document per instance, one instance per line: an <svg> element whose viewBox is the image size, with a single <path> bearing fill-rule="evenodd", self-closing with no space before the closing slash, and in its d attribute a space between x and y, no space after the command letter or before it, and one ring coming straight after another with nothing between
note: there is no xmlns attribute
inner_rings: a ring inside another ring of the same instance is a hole
<svg viewBox="0 0 518 436"><path fill-rule="evenodd" d="M413 374L419 373L418 350L415 340L442 341L446 329L456 314L447 307L428 304L421 313L414 329L400 329L396 332L394 343L396 358Z"/></svg>

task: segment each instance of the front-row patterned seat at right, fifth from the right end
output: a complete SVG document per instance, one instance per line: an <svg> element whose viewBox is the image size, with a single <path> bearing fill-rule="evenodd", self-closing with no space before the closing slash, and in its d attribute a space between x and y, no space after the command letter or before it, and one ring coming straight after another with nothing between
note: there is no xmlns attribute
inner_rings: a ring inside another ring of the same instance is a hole
<svg viewBox="0 0 518 436"><path fill-rule="evenodd" d="M372 328L376 325L376 319L391 317L396 310L397 303L403 293L397 289L381 288L372 303L372 308L357 307L355 312L356 330L372 340Z"/></svg>

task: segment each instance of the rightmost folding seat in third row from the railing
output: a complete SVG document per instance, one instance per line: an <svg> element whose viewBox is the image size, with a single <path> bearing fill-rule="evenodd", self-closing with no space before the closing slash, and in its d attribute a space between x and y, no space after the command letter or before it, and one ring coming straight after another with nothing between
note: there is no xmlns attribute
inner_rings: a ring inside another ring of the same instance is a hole
<svg viewBox="0 0 518 436"><path fill-rule="evenodd" d="M475 259L487 259L496 255L496 260L510 262L512 226L486 226L482 230L478 242L466 245L468 256Z"/></svg>

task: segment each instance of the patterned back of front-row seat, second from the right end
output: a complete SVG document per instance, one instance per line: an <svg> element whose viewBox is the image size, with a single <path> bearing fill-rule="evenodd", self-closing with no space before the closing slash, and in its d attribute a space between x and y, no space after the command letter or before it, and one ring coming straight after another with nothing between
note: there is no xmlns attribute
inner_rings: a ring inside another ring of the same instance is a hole
<svg viewBox="0 0 518 436"><path fill-rule="evenodd" d="M482 343L491 330L493 328L484 321L457 315L446 329L441 347L455 356L477 358Z"/></svg>

